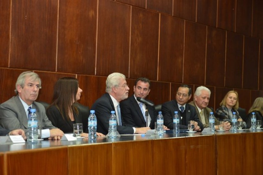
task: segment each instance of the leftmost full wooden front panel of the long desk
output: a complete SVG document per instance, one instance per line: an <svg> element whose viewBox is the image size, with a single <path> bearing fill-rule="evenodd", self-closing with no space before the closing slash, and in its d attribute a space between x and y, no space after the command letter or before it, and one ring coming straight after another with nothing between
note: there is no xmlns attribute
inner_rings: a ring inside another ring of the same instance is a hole
<svg viewBox="0 0 263 175"><path fill-rule="evenodd" d="M67 147L33 149L6 153L7 174L61 174L67 175ZM22 161L21 161L22 160ZM30 166L29 166L30 162ZM34 173L33 173L34 174Z"/></svg>

